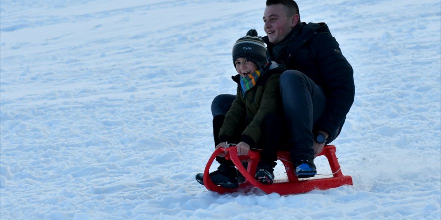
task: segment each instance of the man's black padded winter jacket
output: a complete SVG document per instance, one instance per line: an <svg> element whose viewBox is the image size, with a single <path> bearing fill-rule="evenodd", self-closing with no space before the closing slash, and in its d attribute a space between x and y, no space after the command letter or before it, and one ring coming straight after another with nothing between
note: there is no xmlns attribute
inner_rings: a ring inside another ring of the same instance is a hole
<svg viewBox="0 0 441 220"><path fill-rule="evenodd" d="M302 72L322 87L326 108L314 130L326 131L335 139L354 102L353 69L325 23L298 23L278 44L262 37L270 61L282 61L287 69ZM329 138L328 138L329 139Z"/></svg>

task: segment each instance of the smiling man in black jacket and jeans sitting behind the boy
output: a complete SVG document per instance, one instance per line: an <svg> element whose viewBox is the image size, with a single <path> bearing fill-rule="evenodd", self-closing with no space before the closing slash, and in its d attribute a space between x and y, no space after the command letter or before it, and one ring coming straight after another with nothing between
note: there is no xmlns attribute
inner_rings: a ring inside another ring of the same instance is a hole
<svg viewBox="0 0 441 220"><path fill-rule="evenodd" d="M325 23L303 23L294 0L267 0L263 40L270 61L282 61L280 77L287 150L298 178L317 174L314 158L341 131L354 101L353 69ZM234 95L219 95L213 116L225 115Z"/></svg>

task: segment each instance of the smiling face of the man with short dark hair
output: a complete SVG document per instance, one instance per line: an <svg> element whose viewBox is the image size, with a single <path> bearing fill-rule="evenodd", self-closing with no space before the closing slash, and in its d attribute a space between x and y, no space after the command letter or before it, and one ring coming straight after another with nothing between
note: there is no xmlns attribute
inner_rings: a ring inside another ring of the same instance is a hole
<svg viewBox="0 0 441 220"><path fill-rule="evenodd" d="M288 17L287 10L282 4L274 4L265 8L264 31L270 43L276 44L291 31L299 21L299 15Z"/></svg>

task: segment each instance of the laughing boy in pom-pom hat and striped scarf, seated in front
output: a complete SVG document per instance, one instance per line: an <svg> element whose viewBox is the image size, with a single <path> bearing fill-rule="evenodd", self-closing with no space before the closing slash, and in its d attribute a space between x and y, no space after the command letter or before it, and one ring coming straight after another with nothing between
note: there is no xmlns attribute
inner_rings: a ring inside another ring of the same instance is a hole
<svg viewBox="0 0 441 220"><path fill-rule="evenodd" d="M250 148L262 149L255 178L271 184L274 179L277 150L280 143L282 119L279 77L286 70L276 62L268 62L267 49L256 30L249 30L233 46L233 64L238 75L236 99L228 113L215 116L213 133L215 149L237 143L239 155L247 155ZM238 171L233 162L218 156L218 169L210 173L211 180L225 188L239 187ZM203 174L196 175L203 184Z"/></svg>

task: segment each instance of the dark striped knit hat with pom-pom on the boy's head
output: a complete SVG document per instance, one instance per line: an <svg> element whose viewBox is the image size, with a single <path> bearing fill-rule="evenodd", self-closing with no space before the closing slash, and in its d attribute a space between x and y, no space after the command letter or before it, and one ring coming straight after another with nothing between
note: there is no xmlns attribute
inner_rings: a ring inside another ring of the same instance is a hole
<svg viewBox="0 0 441 220"><path fill-rule="evenodd" d="M236 41L233 46L232 55L233 65L237 58L246 58L256 63L259 67L264 66L268 62L267 48L264 41L257 36L255 29L249 30L245 37Z"/></svg>

